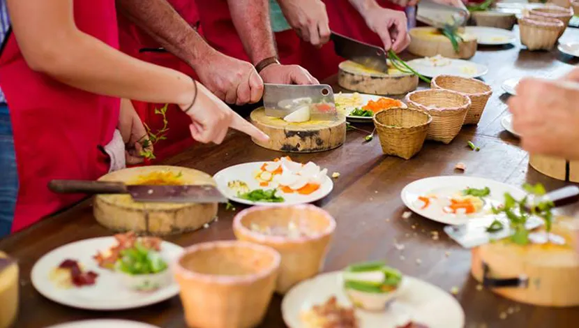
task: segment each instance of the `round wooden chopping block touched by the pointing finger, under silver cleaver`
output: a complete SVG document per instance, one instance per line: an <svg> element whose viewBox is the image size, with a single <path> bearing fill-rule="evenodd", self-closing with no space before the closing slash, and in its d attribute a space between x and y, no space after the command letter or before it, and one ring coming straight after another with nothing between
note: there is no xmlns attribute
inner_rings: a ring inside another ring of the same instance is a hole
<svg viewBox="0 0 579 328"><path fill-rule="evenodd" d="M251 121L269 135L269 142L253 139L255 144L276 151L313 153L340 147L346 140L346 118L338 114L335 121L306 121L289 123L269 117L263 107L251 112Z"/></svg>

